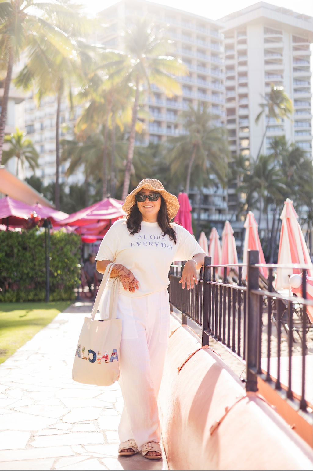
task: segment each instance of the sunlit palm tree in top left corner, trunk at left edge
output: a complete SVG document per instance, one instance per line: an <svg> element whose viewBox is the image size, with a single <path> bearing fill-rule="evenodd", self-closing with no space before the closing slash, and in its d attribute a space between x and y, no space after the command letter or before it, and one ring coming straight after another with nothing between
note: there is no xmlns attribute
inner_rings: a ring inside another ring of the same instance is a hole
<svg viewBox="0 0 313 471"><path fill-rule="evenodd" d="M72 34L86 30L84 18L79 14L80 8L69 0L37 4L33 0L0 1L0 71L5 74L0 116L0 163L13 65L23 52L26 52L26 57L36 53L41 57L38 38L44 38L66 57L73 55ZM70 31L72 34L68 34Z"/></svg>

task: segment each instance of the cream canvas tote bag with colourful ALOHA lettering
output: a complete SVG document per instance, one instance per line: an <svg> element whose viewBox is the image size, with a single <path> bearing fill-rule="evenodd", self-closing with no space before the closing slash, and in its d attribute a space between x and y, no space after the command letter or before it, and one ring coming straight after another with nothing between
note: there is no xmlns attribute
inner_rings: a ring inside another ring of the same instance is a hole
<svg viewBox="0 0 313 471"><path fill-rule="evenodd" d="M116 319L119 277L111 288L109 317L95 320L99 302L115 263L109 263L100 283L91 317L85 317L79 336L72 378L74 381L97 386L110 386L118 380L122 320ZM106 309L106 306L105 306Z"/></svg>

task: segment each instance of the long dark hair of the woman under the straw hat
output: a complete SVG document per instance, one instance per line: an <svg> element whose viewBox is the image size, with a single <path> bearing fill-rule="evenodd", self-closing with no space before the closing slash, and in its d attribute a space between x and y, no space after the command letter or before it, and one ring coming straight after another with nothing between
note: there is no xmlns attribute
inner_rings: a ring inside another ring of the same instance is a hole
<svg viewBox="0 0 313 471"><path fill-rule="evenodd" d="M168 214L167 214L166 203L164 199L162 198L162 195L160 195L160 198L161 198L161 207L160 207L159 212L157 213L158 225L162 229L163 235L165 234L169 235L170 240L173 240L174 244L176 244L177 242L176 231L170 225L170 221L168 219ZM132 235L138 234L138 232L140 232L140 229L141 229L142 216L137 206L137 201L135 201L135 204L132 206L131 211L128 214L126 219L127 219L127 229L129 230L129 232Z"/></svg>

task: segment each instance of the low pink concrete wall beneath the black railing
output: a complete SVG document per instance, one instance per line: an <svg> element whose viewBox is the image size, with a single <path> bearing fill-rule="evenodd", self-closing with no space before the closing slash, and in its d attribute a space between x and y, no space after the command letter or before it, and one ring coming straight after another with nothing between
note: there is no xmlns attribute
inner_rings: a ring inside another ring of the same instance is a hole
<svg viewBox="0 0 313 471"><path fill-rule="evenodd" d="M171 318L171 330L178 327ZM159 393L162 437L170 470L312 470L312 449L260 398L235 404L243 383L214 352L180 327L169 339Z"/></svg>

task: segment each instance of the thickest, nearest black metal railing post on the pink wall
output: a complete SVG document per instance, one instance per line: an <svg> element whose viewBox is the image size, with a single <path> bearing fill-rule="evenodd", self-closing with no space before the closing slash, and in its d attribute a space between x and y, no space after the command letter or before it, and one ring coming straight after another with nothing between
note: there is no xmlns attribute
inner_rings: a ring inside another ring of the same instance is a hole
<svg viewBox="0 0 313 471"><path fill-rule="evenodd" d="M247 308L246 316L246 349L245 360L247 362L247 391L257 391L257 352L258 352L258 336L260 335L260 309L259 297L252 294L251 290L259 288L259 269L253 267L259 263L259 252L257 250L248 250L248 266L247 266Z"/></svg>

